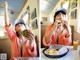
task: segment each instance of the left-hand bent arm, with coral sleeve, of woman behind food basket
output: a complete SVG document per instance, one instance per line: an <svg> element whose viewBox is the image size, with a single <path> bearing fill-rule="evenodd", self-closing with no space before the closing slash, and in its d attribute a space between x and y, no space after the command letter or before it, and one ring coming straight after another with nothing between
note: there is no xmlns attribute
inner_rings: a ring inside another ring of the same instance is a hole
<svg viewBox="0 0 80 60"><path fill-rule="evenodd" d="M51 41L52 41L52 36L53 39L55 39L55 31L58 29L58 26L60 21L55 21L52 26L48 26L45 32L45 35L43 37L43 45L44 46L49 46Z"/></svg>

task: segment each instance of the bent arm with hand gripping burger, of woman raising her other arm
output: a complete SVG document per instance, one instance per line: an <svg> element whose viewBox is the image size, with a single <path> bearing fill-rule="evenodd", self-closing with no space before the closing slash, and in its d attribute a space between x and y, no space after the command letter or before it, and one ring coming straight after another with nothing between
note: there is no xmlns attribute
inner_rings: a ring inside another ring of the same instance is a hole
<svg viewBox="0 0 80 60"><path fill-rule="evenodd" d="M36 57L37 46L36 46L34 34L30 30L26 29L24 30L23 36L27 39L27 44L26 44L27 52L31 57Z"/></svg>

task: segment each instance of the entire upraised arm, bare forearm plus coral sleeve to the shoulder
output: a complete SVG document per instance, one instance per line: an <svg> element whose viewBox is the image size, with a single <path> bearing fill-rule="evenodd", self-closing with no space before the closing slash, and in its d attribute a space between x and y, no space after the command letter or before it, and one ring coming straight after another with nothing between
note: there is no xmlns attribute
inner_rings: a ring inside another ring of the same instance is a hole
<svg viewBox="0 0 80 60"><path fill-rule="evenodd" d="M5 21L5 29L10 40L14 40L13 38L16 36L16 33L10 28L11 24L9 24L9 17L8 17L8 4L7 2L4 3L4 21Z"/></svg>

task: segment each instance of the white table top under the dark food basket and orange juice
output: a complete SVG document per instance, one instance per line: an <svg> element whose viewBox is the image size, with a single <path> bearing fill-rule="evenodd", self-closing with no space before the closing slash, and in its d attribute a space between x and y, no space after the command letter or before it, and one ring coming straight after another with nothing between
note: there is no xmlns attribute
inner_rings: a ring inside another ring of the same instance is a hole
<svg viewBox="0 0 80 60"><path fill-rule="evenodd" d="M80 45L77 50L73 50L73 46L66 46L69 48L69 52L61 58L48 58L43 54L43 49L41 49L41 60L80 60Z"/></svg>

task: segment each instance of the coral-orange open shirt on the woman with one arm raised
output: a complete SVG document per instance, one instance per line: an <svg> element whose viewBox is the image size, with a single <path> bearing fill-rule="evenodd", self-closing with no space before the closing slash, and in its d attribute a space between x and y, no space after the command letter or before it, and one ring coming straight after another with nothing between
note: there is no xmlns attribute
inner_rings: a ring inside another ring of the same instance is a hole
<svg viewBox="0 0 80 60"><path fill-rule="evenodd" d="M14 57L21 57L20 54L20 47L19 47L19 38L17 37L16 33L10 28L9 26L5 26L7 34L11 40L11 59L13 60ZM31 50L29 49L29 41L27 41L23 46L22 57L36 57L37 50L36 50L36 43L35 40L31 44Z"/></svg>

